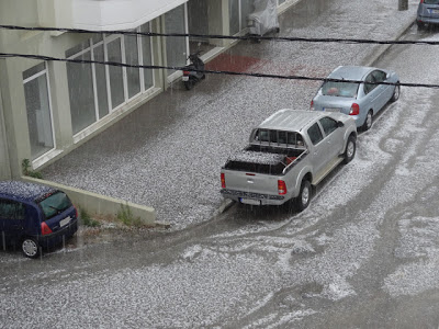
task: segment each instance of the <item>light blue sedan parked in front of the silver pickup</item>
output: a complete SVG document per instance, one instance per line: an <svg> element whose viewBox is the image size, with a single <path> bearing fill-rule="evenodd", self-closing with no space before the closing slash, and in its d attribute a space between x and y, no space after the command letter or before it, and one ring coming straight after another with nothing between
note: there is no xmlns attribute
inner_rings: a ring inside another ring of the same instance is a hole
<svg viewBox="0 0 439 329"><path fill-rule="evenodd" d="M325 81L322 84L311 102L311 110L348 114L356 121L357 127L363 131L372 126L373 115L399 98L399 78L391 70L339 66L328 79L336 81Z"/></svg>

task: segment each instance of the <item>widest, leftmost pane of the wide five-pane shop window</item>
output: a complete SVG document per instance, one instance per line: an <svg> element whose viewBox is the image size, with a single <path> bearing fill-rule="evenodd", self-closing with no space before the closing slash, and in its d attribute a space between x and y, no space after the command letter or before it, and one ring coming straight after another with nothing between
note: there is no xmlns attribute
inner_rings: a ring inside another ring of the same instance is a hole
<svg viewBox="0 0 439 329"><path fill-rule="evenodd" d="M90 50L75 59L91 60ZM91 64L67 63L71 128L79 133L97 121Z"/></svg>

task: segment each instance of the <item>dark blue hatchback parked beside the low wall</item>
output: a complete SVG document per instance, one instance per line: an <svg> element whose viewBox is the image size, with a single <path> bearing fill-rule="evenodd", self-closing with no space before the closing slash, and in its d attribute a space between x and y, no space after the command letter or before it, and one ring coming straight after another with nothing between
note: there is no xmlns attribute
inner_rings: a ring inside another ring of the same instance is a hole
<svg viewBox="0 0 439 329"><path fill-rule="evenodd" d="M21 246L23 254L37 258L70 238L78 229L78 212L66 193L21 181L0 182L1 248Z"/></svg>

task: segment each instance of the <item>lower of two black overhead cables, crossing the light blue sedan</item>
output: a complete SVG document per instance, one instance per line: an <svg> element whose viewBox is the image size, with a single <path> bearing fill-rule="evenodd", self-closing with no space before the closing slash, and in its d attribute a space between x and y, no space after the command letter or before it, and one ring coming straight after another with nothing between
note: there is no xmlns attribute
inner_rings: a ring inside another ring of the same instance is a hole
<svg viewBox="0 0 439 329"><path fill-rule="evenodd" d="M100 65L111 65L116 67L128 67L138 69L172 69L172 70L187 70L187 67L176 67L176 66L158 66L158 65L130 65L119 61L100 61L100 60L89 60L89 59L72 59L72 58L57 58L50 56L42 55L29 55L29 54L7 54L0 53L0 57L21 57L37 60L48 60L48 61L66 61L76 64L100 64ZM224 70L196 70L198 72L213 73L213 75L229 75L229 76L245 76L245 77L256 77L256 78L272 78L272 79L284 79L284 80L305 80L305 81L333 81L333 82L352 82L352 83L363 83L363 81L358 80L345 80L345 79L330 79L330 78L319 78L319 77L306 77L306 76L281 76L281 75L268 75L258 72L237 72L237 71L224 71ZM368 82L369 83L369 82ZM427 84L427 83L392 83L392 82L370 82L370 84L387 84L387 86L401 86L401 87L418 87L418 88L432 88L439 89L439 84Z"/></svg>

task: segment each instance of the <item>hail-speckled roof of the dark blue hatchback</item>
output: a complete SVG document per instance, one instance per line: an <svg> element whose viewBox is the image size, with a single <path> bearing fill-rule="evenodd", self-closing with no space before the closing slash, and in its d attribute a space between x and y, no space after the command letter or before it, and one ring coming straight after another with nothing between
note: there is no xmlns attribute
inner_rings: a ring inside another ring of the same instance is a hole
<svg viewBox="0 0 439 329"><path fill-rule="evenodd" d="M22 181L0 181L0 196L9 196L14 200L34 201L44 194L56 191L43 184Z"/></svg>

